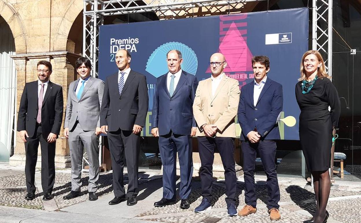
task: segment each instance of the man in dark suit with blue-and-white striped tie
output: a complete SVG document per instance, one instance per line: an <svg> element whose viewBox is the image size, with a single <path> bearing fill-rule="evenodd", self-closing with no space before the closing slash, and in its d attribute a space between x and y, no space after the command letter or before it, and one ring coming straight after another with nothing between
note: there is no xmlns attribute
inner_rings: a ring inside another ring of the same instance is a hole
<svg viewBox="0 0 361 223"><path fill-rule="evenodd" d="M128 170L127 205L135 205L138 195L138 156L140 131L148 112L147 80L130 69L131 55L119 50L115 56L119 71L106 78L101 103L101 130L108 136L113 167L114 199L109 205L125 201L123 157Z"/></svg>

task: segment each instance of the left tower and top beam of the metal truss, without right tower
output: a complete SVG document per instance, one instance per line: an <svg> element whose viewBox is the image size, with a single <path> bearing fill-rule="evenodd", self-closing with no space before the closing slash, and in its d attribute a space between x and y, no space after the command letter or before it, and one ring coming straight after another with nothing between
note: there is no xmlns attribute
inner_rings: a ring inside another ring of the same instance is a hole
<svg viewBox="0 0 361 223"><path fill-rule="evenodd" d="M155 12L159 20L238 13L249 2L269 0L83 0L83 56L92 63L91 75L98 76L99 27L104 17L132 13ZM195 12L195 9L197 12ZM102 151L100 137L99 151ZM101 152L99 163L102 162ZM86 151L82 166L89 165Z"/></svg>

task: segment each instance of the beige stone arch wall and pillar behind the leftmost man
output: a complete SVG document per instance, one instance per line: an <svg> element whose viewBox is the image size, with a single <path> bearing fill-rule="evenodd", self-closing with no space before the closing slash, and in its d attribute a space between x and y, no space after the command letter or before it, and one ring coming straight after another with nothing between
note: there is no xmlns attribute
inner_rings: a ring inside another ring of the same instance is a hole
<svg viewBox="0 0 361 223"><path fill-rule="evenodd" d="M76 78L73 65L79 57L74 54L75 44L78 48L82 44L74 43L74 39L82 39L82 29L73 31L71 40L69 36L73 24L79 24L75 20L82 11L82 0L0 0L0 16L8 23L15 40L17 111L25 83L38 79L36 64L47 60L53 66L50 80L63 87L65 114L69 84ZM70 166L68 142L62 136L61 128L55 157L56 167L60 168ZM38 163L40 161L39 149ZM25 165L25 147L18 134L10 164Z"/></svg>

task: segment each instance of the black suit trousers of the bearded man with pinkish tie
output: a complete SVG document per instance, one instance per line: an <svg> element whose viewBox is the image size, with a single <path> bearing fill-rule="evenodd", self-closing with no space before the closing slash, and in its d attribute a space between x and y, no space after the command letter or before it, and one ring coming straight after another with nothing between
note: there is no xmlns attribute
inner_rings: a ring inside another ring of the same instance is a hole
<svg viewBox="0 0 361 223"><path fill-rule="evenodd" d="M25 142L25 176L27 192L35 192L35 166L38 160L38 147L42 151L42 188L44 193L53 191L55 180L55 145L56 142L48 143L43 137L42 126L36 125L35 134L26 138Z"/></svg>

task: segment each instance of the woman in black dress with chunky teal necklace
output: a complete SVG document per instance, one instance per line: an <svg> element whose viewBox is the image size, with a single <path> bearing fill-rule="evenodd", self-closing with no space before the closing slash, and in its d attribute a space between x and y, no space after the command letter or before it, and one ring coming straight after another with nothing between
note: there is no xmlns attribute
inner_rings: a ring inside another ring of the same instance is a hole
<svg viewBox="0 0 361 223"><path fill-rule="evenodd" d="M340 99L318 51L305 52L300 67L301 77L296 84L296 99L301 109L300 142L307 169L313 176L317 200L317 212L306 222L326 223L329 217L326 205L331 189L332 131L340 117Z"/></svg>

